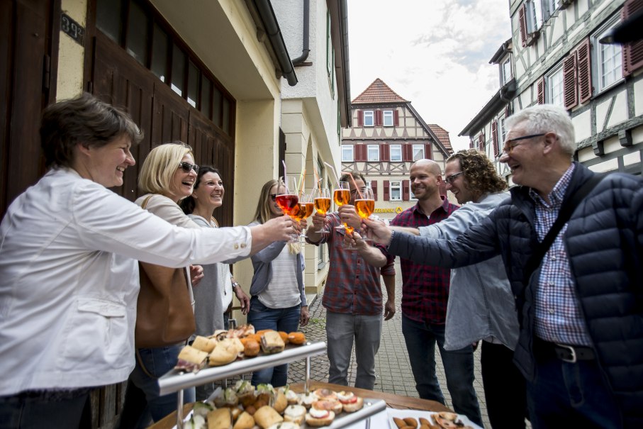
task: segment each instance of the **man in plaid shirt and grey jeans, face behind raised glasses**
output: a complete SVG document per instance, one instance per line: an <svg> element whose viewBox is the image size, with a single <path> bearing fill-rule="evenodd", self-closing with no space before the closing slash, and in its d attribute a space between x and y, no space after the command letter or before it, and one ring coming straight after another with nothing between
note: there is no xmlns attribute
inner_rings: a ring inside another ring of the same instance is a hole
<svg viewBox="0 0 643 429"><path fill-rule="evenodd" d="M358 238L357 250L344 249L345 230L335 229L346 222L359 228L362 223L353 206L355 196L366 186L364 177L352 173L340 177L340 182L350 184L350 204L339 208L337 213L326 216L315 212L313 226L308 228L308 243L328 243L330 264L324 289L322 305L326 308L326 336L330 369L328 382L348 385L348 367L355 342L357 377L355 387L373 389L375 385L375 355L379 349L382 329L382 291L380 274L387 276L387 301L384 320L395 314L395 269L393 258L382 246L368 245ZM356 186L357 185L357 186Z"/></svg>

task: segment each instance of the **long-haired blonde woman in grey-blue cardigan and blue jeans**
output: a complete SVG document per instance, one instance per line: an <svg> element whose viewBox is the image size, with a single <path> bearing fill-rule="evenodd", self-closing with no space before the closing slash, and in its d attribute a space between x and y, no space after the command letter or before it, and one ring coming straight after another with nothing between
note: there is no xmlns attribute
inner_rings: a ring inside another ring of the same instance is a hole
<svg viewBox="0 0 643 429"><path fill-rule="evenodd" d="M276 196L283 191L276 180L262 187L255 211L255 221L250 226L261 225L281 216ZM301 221L306 228L306 220ZM273 243L252 256L255 274L250 284L250 312L248 323L255 330L274 329L285 332L298 330L308 323L308 304L303 287L303 255L298 244ZM261 369L252 374L252 384L270 383L285 386L288 364Z"/></svg>

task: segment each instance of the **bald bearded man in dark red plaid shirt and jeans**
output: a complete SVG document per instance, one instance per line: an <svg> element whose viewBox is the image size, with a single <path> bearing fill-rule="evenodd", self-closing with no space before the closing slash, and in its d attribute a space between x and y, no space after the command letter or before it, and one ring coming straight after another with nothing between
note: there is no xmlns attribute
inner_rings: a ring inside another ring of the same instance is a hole
<svg viewBox="0 0 643 429"><path fill-rule="evenodd" d="M431 160L418 160L410 167L410 186L418 204L398 214L391 225L410 227L438 223L458 206L440 196L442 172ZM404 228L393 228L401 231ZM417 233L417 231L415 231ZM451 270L401 260L402 333L410 360L415 388L422 399L444 403L435 375L435 343L440 349L447 387L453 408L481 423L480 408L474 390L474 348L444 350L444 327L449 299Z"/></svg>

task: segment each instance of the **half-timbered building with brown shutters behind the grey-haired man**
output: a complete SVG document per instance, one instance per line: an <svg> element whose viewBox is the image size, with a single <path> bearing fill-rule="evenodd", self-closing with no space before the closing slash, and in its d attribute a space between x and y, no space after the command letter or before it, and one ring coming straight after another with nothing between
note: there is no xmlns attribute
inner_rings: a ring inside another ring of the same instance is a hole
<svg viewBox="0 0 643 429"><path fill-rule="evenodd" d="M596 172L642 174L643 42L599 42L641 9L642 0L510 1L511 38L490 61L500 89L460 135L497 162L507 116L558 104L574 122L575 160Z"/></svg>

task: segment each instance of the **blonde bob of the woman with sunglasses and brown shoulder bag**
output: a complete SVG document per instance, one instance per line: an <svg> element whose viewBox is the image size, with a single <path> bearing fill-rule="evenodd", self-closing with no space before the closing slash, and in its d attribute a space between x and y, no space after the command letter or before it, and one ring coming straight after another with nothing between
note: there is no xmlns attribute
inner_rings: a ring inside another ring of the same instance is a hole
<svg viewBox="0 0 643 429"><path fill-rule="evenodd" d="M181 141L164 143L150 150L138 174L140 190L145 194L167 194L185 155L194 157L192 148Z"/></svg>

